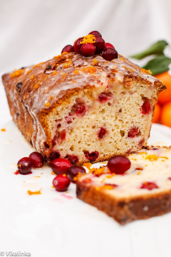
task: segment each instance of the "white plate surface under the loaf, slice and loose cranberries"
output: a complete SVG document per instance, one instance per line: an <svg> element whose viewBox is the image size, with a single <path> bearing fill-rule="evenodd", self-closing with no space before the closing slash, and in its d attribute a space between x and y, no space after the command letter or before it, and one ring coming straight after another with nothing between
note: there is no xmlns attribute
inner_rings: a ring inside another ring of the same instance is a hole
<svg viewBox="0 0 171 257"><path fill-rule="evenodd" d="M3 128L6 131L0 131L0 254L26 251L32 257L170 256L171 213L121 226L77 199L74 184L68 193L55 191L54 175L48 166L33 170L31 175L15 175L14 163L34 150L12 121ZM148 143L168 146L169 136L170 128L153 124ZM27 193L40 189L40 195Z"/></svg>

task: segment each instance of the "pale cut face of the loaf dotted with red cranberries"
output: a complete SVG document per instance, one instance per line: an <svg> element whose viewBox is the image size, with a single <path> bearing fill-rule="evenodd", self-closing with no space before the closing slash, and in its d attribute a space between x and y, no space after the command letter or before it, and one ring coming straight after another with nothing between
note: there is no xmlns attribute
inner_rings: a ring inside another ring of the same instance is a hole
<svg viewBox="0 0 171 257"><path fill-rule="evenodd" d="M54 153L74 158L75 164L140 149L149 137L155 102L155 89L137 82L125 87L114 81L108 87L103 83L73 91L62 105L40 117L46 134L50 132L48 141L41 138L43 153L49 159Z"/></svg>

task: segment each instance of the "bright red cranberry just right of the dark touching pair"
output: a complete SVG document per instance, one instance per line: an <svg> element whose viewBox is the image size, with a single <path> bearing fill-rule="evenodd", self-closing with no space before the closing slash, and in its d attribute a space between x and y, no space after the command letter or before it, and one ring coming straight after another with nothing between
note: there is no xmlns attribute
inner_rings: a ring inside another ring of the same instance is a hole
<svg viewBox="0 0 171 257"><path fill-rule="evenodd" d="M56 174L67 174L71 163L66 159L56 158L51 162L50 166Z"/></svg>

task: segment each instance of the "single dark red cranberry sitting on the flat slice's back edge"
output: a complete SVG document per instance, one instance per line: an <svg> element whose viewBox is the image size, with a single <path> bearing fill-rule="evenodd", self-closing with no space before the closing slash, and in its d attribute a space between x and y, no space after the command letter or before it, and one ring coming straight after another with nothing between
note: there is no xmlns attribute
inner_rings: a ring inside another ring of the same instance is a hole
<svg viewBox="0 0 171 257"><path fill-rule="evenodd" d="M112 173L124 174L131 167L131 163L127 157L116 155L109 159L107 166Z"/></svg>

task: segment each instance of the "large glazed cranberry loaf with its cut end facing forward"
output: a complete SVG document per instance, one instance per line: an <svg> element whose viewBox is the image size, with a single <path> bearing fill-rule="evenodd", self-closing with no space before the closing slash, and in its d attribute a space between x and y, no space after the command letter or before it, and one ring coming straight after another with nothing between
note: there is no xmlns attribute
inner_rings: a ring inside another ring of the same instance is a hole
<svg viewBox="0 0 171 257"><path fill-rule="evenodd" d="M62 53L2 77L14 122L47 162L98 162L147 144L165 89L122 56Z"/></svg>

